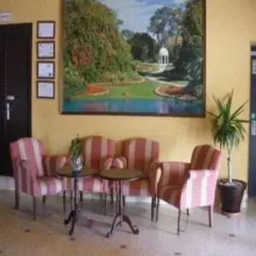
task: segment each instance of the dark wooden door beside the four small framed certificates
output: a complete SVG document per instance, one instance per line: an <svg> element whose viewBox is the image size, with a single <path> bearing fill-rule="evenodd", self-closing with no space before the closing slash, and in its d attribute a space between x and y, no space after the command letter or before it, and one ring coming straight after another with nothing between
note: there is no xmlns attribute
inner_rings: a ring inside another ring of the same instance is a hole
<svg viewBox="0 0 256 256"><path fill-rule="evenodd" d="M9 143L31 137L32 24L0 26L0 175L12 176Z"/></svg>

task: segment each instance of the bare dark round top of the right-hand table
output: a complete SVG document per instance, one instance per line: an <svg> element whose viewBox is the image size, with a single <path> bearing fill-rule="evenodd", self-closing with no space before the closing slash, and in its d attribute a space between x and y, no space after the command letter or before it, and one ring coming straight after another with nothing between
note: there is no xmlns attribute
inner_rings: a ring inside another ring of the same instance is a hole
<svg viewBox="0 0 256 256"><path fill-rule="evenodd" d="M102 170L98 172L97 175L113 181L132 181L143 177L143 172L135 169L113 168L109 170Z"/></svg>

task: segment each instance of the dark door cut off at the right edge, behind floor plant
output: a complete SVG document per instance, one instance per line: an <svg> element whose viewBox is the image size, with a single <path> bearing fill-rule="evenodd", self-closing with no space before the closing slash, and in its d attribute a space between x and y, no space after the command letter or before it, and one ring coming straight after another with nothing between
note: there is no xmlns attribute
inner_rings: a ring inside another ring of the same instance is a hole
<svg viewBox="0 0 256 256"><path fill-rule="evenodd" d="M256 196L256 46L251 47L251 127L249 140L248 196Z"/></svg>

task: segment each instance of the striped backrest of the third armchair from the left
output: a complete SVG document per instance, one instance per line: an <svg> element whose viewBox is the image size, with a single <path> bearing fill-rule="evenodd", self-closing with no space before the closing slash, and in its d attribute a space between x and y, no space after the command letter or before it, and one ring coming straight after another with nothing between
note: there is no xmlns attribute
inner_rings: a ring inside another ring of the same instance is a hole
<svg viewBox="0 0 256 256"><path fill-rule="evenodd" d="M126 140L122 145L122 156L128 168L135 168L148 177L152 160L159 158L159 143L146 138Z"/></svg>

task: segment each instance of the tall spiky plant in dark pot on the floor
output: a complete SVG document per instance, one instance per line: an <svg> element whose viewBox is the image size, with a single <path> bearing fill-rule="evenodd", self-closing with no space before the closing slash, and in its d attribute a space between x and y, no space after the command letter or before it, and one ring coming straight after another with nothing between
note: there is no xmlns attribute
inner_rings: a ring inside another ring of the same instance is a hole
<svg viewBox="0 0 256 256"><path fill-rule="evenodd" d="M244 112L247 102L244 102L232 112L233 90L224 97L223 101L216 99L214 96L213 100L218 111L217 113L208 112L212 115L212 138L214 143L218 144L220 149L226 149L228 154L228 177L218 180L221 209L227 214L239 213L241 212L241 201L247 183L233 178L231 154L233 149L238 147L245 137L244 123L249 121L240 119L240 115Z"/></svg>

